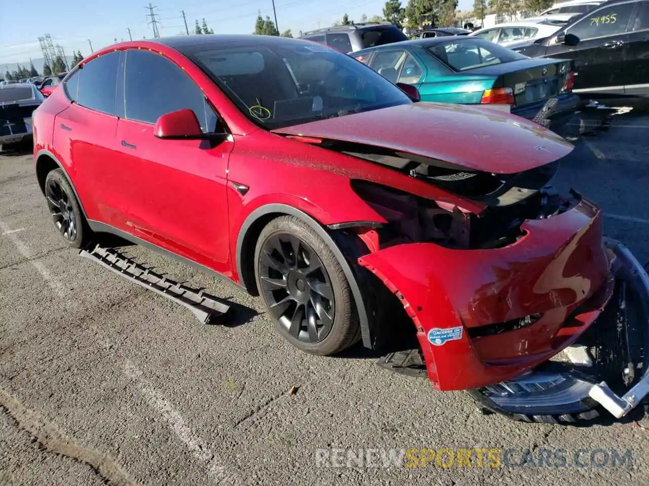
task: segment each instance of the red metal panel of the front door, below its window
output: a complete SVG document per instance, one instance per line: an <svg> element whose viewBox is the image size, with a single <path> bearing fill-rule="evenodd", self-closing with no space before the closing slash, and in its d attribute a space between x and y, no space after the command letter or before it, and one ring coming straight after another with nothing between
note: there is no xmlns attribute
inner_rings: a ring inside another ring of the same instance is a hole
<svg viewBox="0 0 649 486"><path fill-rule="evenodd" d="M117 155L101 178L113 226L230 277L228 157L234 144L162 140L120 119Z"/></svg>

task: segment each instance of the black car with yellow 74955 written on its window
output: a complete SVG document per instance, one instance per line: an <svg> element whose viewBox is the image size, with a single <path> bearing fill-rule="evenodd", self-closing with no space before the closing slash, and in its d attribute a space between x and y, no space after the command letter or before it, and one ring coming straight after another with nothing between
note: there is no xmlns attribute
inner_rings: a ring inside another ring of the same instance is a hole
<svg viewBox="0 0 649 486"><path fill-rule="evenodd" d="M512 49L574 60L573 91L582 97L649 97L649 0L609 0L556 34Z"/></svg>

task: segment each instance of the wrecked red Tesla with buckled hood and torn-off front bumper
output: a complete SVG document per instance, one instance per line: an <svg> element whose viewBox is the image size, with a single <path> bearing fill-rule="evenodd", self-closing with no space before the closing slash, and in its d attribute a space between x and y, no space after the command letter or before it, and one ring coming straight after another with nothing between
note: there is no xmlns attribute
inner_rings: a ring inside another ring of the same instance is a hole
<svg viewBox="0 0 649 486"><path fill-rule="evenodd" d="M649 391L649 278L552 188L572 145L545 128L262 36L117 44L62 87L34 162L70 246L112 233L198 265L302 351L362 341L513 419L622 417Z"/></svg>

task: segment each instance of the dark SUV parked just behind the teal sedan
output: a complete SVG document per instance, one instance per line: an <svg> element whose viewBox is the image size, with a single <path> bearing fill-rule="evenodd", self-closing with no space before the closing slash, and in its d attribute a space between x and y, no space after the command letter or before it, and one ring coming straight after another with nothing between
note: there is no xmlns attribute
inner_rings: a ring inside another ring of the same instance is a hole
<svg viewBox="0 0 649 486"><path fill-rule="evenodd" d="M304 32L300 39L310 40L326 44L337 51L354 52L374 47L375 45L389 44L408 40L396 25L391 23L352 23L350 25L339 25L326 27L324 29Z"/></svg>

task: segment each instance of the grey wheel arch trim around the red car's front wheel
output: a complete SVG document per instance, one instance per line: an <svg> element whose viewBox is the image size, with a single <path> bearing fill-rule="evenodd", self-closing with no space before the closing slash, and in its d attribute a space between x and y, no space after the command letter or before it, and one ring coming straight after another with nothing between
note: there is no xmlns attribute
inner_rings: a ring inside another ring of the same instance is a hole
<svg viewBox="0 0 649 486"><path fill-rule="evenodd" d="M345 277L349 282L354 303L356 305L356 312L358 314L358 321L361 326L361 336L363 338L363 346L372 347L371 334L369 329L369 319L367 317L367 309L365 301L361 294L360 285L354 271L352 270L349 261L345 258L343 251L339 248L336 240L330 235L326 227L320 224L310 214L297 209L293 206L280 203L271 203L263 205L254 209L247 218L245 218L241 228L239 229L237 243L236 243L236 268L241 286L251 295L259 295L257 285L254 279L254 247L257 244L257 239L265 227L271 220L278 216L295 216L306 224L308 224L315 233L329 246L338 260Z"/></svg>

